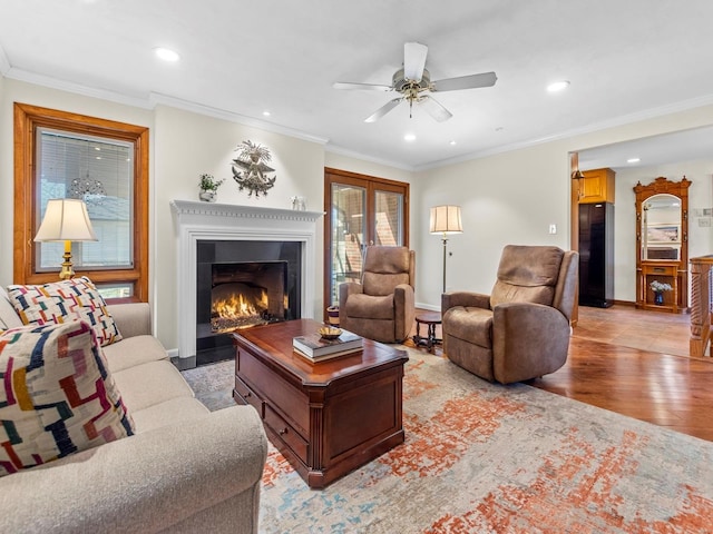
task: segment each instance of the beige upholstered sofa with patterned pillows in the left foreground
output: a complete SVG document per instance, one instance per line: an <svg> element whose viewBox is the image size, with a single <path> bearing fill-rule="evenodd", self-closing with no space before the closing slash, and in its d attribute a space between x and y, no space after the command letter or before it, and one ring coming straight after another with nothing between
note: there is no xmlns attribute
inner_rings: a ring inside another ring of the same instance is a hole
<svg viewBox="0 0 713 534"><path fill-rule="evenodd" d="M257 532L255 409L208 412L150 335L148 305L109 310L124 339L104 352L136 434L0 477L0 532ZM0 329L14 326L0 289Z"/></svg>

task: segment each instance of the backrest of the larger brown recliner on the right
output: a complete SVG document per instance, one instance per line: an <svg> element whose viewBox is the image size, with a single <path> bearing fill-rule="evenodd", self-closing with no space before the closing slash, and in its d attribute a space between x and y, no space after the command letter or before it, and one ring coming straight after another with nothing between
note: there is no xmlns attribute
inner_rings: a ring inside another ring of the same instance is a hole
<svg viewBox="0 0 713 534"><path fill-rule="evenodd" d="M558 247L507 245L490 294L490 308L502 303L553 306L564 256Z"/></svg>

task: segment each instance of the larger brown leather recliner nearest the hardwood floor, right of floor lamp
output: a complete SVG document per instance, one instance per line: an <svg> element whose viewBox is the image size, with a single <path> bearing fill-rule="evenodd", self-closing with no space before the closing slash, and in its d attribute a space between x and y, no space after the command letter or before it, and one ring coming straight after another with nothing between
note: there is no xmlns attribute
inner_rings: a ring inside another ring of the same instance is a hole
<svg viewBox="0 0 713 534"><path fill-rule="evenodd" d="M443 353L501 384L554 373L567 362L578 268L573 250L506 246L491 295L442 295Z"/></svg>

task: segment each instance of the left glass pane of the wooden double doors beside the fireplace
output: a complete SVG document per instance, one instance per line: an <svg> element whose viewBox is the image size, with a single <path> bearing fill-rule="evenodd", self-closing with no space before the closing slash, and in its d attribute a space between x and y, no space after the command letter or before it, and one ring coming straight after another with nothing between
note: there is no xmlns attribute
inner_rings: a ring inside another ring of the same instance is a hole
<svg viewBox="0 0 713 534"><path fill-rule="evenodd" d="M362 247L367 235L367 188L332 184L330 304L339 303L339 285L361 278Z"/></svg>

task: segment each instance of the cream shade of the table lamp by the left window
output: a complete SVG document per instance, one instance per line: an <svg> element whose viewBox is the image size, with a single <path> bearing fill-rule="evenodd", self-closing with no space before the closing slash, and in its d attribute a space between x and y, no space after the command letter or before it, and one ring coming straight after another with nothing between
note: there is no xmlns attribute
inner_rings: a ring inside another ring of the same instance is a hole
<svg viewBox="0 0 713 534"><path fill-rule="evenodd" d="M87 205L74 198L53 198L47 209L36 241L97 241Z"/></svg>

